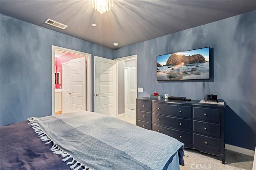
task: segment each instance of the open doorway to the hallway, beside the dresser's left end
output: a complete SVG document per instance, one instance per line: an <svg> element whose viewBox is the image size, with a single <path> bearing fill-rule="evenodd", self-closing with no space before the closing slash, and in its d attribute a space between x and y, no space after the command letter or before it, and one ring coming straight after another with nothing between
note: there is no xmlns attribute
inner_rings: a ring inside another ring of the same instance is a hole
<svg viewBox="0 0 256 170"><path fill-rule="evenodd" d="M136 125L137 55L116 59L117 117Z"/></svg>

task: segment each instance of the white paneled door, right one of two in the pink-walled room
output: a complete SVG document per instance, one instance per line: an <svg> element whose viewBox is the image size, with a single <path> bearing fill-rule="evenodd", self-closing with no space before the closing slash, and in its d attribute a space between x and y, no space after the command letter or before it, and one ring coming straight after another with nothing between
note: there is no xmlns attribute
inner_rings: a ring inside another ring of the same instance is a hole
<svg viewBox="0 0 256 170"><path fill-rule="evenodd" d="M86 110L85 57L70 60L70 107L72 111Z"/></svg>

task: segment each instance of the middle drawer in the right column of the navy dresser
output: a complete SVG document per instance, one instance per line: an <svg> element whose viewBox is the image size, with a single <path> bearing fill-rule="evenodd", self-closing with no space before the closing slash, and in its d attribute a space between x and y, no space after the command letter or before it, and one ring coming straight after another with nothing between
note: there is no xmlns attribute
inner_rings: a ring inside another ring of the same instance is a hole
<svg viewBox="0 0 256 170"><path fill-rule="evenodd" d="M193 121L193 129L196 133L202 133L214 137L220 137L220 124L203 121Z"/></svg>

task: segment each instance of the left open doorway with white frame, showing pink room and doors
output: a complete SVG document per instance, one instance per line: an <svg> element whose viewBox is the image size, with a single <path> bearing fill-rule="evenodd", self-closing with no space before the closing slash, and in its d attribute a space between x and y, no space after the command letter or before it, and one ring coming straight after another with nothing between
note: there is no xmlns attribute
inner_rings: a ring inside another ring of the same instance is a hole
<svg viewBox="0 0 256 170"><path fill-rule="evenodd" d="M52 46L52 115L91 111L90 96L91 54Z"/></svg>

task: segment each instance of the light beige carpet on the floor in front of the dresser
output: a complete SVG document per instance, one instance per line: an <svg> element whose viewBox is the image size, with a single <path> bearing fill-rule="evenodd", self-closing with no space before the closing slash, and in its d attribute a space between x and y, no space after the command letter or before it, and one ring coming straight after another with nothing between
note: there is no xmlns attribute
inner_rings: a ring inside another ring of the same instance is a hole
<svg viewBox="0 0 256 170"><path fill-rule="evenodd" d="M252 170L253 156L225 150L226 164L222 164L220 156L199 152L196 149L184 149L185 166L180 170Z"/></svg>

